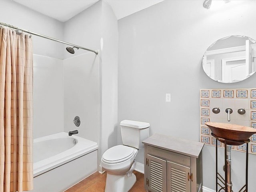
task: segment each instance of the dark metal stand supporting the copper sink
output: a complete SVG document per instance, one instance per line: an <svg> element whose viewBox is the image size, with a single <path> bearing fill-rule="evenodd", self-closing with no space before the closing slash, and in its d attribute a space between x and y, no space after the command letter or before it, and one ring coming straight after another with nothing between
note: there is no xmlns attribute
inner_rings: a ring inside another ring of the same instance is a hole
<svg viewBox="0 0 256 192"><path fill-rule="evenodd" d="M234 141L216 137L213 133L212 136L216 138L216 192L221 192L221 190L233 192L231 182L231 146L238 146L244 143L246 143L246 184L238 192L248 192L248 143L250 139L246 141ZM218 140L224 143L225 147L225 179L218 173ZM218 185L220 186L220 190L218 190Z"/></svg>

